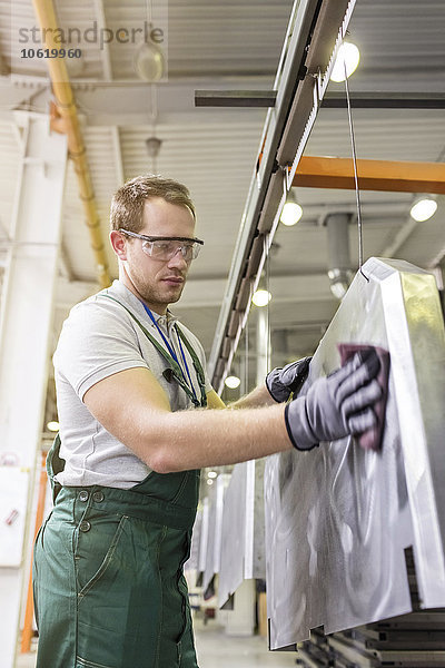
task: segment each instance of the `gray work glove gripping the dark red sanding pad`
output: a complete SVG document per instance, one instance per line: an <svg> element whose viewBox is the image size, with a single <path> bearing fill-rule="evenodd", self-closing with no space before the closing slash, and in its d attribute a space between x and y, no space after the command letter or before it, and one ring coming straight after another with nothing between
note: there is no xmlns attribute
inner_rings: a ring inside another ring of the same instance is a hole
<svg viewBox="0 0 445 668"><path fill-rule="evenodd" d="M375 351L356 353L342 369L317 379L306 396L285 409L289 439L297 450L320 441L362 434L376 423L373 404L380 397L376 381L380 363Z"/></svg>

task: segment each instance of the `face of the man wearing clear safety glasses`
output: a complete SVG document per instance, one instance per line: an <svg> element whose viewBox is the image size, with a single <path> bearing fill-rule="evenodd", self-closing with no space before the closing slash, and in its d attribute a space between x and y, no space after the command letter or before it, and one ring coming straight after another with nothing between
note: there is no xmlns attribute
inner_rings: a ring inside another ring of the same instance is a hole
<svg viewBox="0 0 445 668"><path fill-rule="evenodd" d="M139 234L194 238L195 219L191 212L161 197L146 202L142 220L144 227ZM179 299L189 267L190 262L184 259L180 250L170 259L159 261L142 250L141 239L127 237L127 275L138 295L156 313L164 314L168 304Z"/></svg>

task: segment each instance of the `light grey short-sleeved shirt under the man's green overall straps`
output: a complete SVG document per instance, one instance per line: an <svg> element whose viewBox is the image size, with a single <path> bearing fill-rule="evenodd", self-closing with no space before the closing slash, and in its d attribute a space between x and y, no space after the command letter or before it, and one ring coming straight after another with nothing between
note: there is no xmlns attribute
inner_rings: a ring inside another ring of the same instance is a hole
<svg viewBox="0 0 445 668"><path fill-rule="evenodd" d="M168 382L162 372L169 366L155 345L144 334L130 314L108 297L127 306L164 348L162 338L149 318L142 303L120 282L77 304L63 323L53 355L57 405L60 423L60 456L65 470L57 480L67 487L100 484L129 489L141 482L150 469L123 443L112 436L83 403L85 393L96 383L126 369L149 369L167 393L172 411L192 405L176 381ZM182 353L175 328L177 318L154 314L184 369ZM204 348L184 325L181 331L206 369ZM200 400L199 384L189 352L182 343L195 393ZM206 392L211 384L206 374Z"/></svg>

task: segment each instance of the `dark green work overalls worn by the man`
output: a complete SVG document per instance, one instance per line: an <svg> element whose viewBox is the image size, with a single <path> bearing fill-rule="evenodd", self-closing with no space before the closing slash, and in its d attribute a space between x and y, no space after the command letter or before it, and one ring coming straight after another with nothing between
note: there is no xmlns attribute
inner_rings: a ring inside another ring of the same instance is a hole
<svg viewBox="0 0 445 668"><path fill-rule="evenodd" d="M199 471L151 472L129 490L68 488L53 480L59 448L57 438L47 460L55 508L34 547L37 667L197 668L182 566Z"/></svg>

